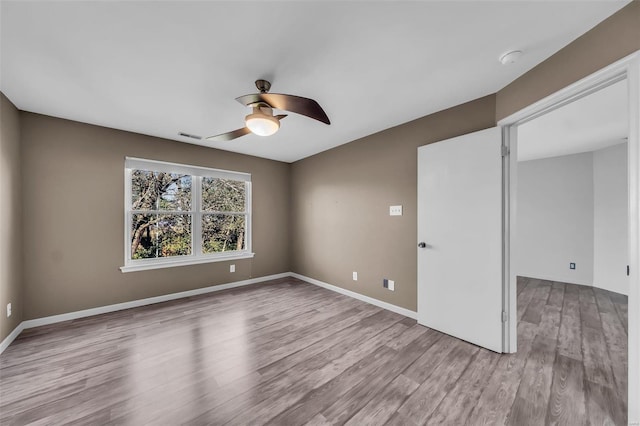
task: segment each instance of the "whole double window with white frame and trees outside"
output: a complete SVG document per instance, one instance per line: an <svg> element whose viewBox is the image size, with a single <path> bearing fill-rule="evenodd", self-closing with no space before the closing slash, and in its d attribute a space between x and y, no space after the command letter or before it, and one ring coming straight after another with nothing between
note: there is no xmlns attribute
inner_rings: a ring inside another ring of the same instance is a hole
<svg viewBox="0 0 640 426"><path fill-rule="evenodd" d="M248 257L250 174L125 160L123 272Z"/></svg>

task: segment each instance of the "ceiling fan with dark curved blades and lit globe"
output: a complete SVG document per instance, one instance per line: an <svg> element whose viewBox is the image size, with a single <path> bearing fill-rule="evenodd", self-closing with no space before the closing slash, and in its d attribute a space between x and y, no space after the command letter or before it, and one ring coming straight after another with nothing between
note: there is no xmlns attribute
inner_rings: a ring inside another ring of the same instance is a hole
<svg viewBox="0 0 640 426"><path fill-rule="evenodd" d="M271 83L267 80L256 80L256 87L260 93L253 93L236 98L236 101L242 105L253 109L251 114L245 117L246 126L220 135L209 136L208 138L204 138L205 140L226 142L249 133L259 136L273 135L280 129L280 120L287 116L286 114L273 115L274 109L295 112L325 124L331 124L329 117L327 117L322 107L313 99L280 93L269 93Z"/></svg>

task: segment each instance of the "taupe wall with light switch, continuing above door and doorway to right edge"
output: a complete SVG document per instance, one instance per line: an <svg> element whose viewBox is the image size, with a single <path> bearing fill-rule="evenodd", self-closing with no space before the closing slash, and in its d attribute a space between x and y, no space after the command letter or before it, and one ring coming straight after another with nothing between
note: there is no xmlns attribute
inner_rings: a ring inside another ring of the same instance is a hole
<svg viewBox="0 0 640 426"><path fill-rule="evenodd" d="M638 49L640 2L634 1L495 97L294 163L292 271L415 310L416 148L491 127ZM391 204L402 204L404 216L389 217ZM395 279L396 291L383 289L382 278Z"/></svg>

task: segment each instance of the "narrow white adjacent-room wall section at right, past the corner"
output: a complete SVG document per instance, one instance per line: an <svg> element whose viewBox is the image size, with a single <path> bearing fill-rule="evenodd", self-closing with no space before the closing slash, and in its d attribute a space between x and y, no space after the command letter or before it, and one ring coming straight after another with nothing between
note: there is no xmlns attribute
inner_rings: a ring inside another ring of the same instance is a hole
<svg viewBox="0 0 640 426"><path fill-rule="evenodd" d="M593 153L593 285L629 294L627 144Z"/></svg>

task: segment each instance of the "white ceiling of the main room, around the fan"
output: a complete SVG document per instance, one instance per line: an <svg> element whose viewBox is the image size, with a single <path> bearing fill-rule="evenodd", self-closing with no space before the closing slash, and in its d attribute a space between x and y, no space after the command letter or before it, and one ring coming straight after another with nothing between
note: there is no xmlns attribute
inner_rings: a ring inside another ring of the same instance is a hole
<svg viewBox="0 0 640 426"><path fill-rule="evenodd" d="M0 89L25 111L192 142L178 132L242 127L234 99L266 78L331 126L291 114L268 138L198 143L292 162L494 93L626 3L2 0ZM520 62L500 65L511 49Z"/></svg>

